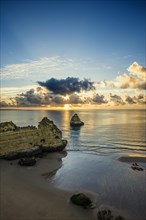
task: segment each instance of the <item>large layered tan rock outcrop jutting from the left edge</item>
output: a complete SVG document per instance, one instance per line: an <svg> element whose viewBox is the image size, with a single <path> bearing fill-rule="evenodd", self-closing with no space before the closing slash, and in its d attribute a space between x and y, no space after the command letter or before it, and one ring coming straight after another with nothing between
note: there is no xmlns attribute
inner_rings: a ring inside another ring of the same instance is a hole
<svg viewBox="0 0 146 220"><path fill-rule="evenodd" d="M17 127L13 122L0 123L0 157L16 159L61 151L67 145L62 132L47 117L38 127Z"/></svg>

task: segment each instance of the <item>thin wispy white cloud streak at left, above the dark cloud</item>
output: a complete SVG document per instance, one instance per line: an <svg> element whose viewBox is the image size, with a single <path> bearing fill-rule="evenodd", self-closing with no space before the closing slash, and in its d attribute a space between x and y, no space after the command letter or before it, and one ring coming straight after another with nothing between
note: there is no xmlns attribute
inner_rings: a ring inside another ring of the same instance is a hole
<svg viewBox="0 0 146 220"><path fill-rule="evenodd" d="M68 58L42 57L38 60L25 60L22 63L9 64L1 68L1 80L26 79L37 75L60 73L72 67L72 60Z"/></svg>

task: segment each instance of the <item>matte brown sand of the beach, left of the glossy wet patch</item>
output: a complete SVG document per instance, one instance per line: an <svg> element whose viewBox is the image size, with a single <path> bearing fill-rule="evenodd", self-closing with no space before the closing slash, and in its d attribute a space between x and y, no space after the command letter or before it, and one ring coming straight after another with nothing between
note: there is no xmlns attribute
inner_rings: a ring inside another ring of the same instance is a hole
<svg viewBox="0 0 146 220"><path fill-rule="evenodd" d="M55 174L67 166L63 164L63 160L70 159L67 159L67 154L66 151L47 154L38 159L33 167L21 167L17 164L18 160L0 160L1 220L97 220L97 212L104 209L110 209L116 216L121 215L126 220L133 220L126 211L110 205L108 200L105 202L94 190L56 187ZM95 157L98 159L97 155ZM130 162L133 158L130 157ZM95 209L87 210L70 202L70 197L80 192L91 198L96 204Z"/></svg>

